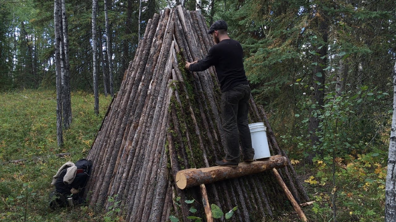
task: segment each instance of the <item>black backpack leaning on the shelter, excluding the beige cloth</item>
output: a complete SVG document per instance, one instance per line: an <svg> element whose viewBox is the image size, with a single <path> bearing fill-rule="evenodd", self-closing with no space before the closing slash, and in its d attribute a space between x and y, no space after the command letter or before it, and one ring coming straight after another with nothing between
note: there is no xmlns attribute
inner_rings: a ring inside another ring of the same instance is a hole
<svg viewBox="0 0 396 222"><path fill-rule="evenodd" d="M52 209L68 206L67 198L69 197L73 198L74 205L84 202L83 196L85 186L88 182L89 175L91 174L92 164L90 160L80 159L75 163L75 166L77 167L77 173L71 184L63 182L63 177L65 177L67 168L63 169L59 174L59 177L55 182L55 191L49 194L49 206ZM72 194L70 192L72 188L79 190L79 192L77 194Z"/></svg>

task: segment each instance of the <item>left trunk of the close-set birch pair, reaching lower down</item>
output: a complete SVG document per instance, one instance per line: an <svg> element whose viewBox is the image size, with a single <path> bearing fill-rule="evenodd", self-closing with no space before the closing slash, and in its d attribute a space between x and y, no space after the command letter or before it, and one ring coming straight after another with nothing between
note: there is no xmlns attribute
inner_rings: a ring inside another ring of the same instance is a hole
<svg viewBox="0 0 396 222"><path fill-rule="evenodd" d="M53 20L55 27L55 77L56 77L56 139L58 146L63 145L62 135L62 88L61 88L61 55L60 41L61 37L59 26L59 0L54 1Z"/></svg>

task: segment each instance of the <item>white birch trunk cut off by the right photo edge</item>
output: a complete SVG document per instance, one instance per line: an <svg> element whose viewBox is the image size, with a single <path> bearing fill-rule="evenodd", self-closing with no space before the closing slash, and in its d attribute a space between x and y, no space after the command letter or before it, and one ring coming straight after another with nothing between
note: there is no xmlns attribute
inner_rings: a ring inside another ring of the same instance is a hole
<svg viewBox="0 0 396 222"><path fill-rule="evenodd" d="M393 70L393 115L385 185L385 222L396 221L396 62Z"/></svg>

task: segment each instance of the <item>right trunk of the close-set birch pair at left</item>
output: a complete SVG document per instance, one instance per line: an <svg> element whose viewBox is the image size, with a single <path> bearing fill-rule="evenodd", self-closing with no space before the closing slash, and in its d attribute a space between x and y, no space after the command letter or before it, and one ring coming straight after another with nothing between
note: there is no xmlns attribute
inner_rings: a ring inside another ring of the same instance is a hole
<svg viewBox="0 0 396 222"><path fill-rule="evenodd" d="M72 107L70 95L70 64L69 64L69 34L67 30L67 16L65 0L62 2L62 34L65 73L62 75L64 84L62 85L62 107L63 107L63 126L70 128L72 123Z"/></svg>

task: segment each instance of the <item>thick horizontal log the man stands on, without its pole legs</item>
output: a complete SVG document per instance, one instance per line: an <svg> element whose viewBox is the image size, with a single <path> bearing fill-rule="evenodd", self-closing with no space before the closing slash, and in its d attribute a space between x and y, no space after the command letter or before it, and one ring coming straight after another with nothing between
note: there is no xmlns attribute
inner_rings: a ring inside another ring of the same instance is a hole
<svg viewBox="0 0 396 222"><path fill-rule="evenodd" d="M237 167L214 166L200 169L185 169L177 172L176 185L183 190L200 184L209 184L225 179L261 173L272 168L285 167L286 164L286 157L276 155L262 161L252 163L242 162Z"/></svg>

